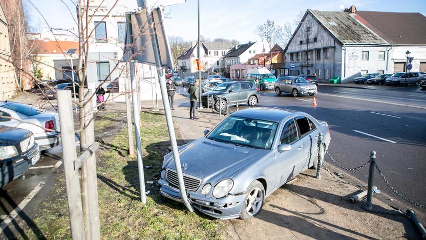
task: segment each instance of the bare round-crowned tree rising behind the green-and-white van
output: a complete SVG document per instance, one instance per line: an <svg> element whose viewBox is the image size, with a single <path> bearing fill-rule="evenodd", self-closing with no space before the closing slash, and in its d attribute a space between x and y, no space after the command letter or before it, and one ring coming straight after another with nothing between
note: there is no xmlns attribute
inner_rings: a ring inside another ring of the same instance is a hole
<svg viewBox="0 0 426 240"><path fill-rule="evenodd" d="M282 40L284 35L283 28L280 25L275 25L275 23L268 18L266 23L257 27L257 31L262 38L262 43L265 41L268 44L270 49L269 62L270 68L272 68L272 47Z"/></svg>

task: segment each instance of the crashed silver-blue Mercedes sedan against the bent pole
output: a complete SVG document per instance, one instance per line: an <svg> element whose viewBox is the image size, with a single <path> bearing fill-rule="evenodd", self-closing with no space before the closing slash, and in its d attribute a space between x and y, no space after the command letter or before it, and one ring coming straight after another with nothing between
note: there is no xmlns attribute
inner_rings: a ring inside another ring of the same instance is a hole
<svg viewBox="0 0 426 240"><path fill-rule="evenodd" d="M179 147L189 203L220 219L256 216L265 197L307 168L316 168L320 132L324 156L328 124L307 113L276 108L232 113L204 137ZM181 202L172 153L164 157L158 184L163 196Z"/></svg>

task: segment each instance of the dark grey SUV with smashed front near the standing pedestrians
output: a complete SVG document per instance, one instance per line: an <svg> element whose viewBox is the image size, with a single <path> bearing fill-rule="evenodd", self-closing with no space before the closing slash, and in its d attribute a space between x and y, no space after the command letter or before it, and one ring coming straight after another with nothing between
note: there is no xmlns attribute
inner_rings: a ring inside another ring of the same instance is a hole
<svg viewBox="0 0 426 240"><path fill-rule="evenodd" d="M207 100L208 96L208 100ZM220 98L220 99L219 99ZM253 82L226 82L218 85L211 91L201 95L201 104L207 107L213 107L219 111L226 112L227 105L248 104L254 106L259 103L259 89Z"/></svg>

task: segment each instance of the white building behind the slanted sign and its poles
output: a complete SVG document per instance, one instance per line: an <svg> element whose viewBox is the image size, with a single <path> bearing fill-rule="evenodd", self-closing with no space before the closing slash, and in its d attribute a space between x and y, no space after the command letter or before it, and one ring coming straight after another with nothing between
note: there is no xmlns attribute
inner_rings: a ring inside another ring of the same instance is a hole
<svg viewBox="0 0 426 240"><path fill-rule="evenodd" d="M117 5L114 2L93 0L89 5L88 87L95 89L105 81L103 88L123 92L126 78L125 63L122 63L125 41L125 12L137 8L134 5ZM110 12L111 10L111 12ZM109 14L109 15L107 15ZM85 22L85 21L83 21ZM135 77L140 82L141 100L161 98L155 66L136 63ZM157 86L156 86L157 84ZM157 91L157 94L156 92Z"/></svg>

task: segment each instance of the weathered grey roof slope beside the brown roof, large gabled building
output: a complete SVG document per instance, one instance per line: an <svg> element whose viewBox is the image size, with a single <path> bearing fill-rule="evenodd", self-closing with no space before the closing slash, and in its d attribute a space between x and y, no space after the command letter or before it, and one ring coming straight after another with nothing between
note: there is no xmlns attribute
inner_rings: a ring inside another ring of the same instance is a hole
<svg viewBox="0 0 426 240"><path fill-rule="evenodd" d="M308 10L342 44L389 44L349 12Z"/></svg>

